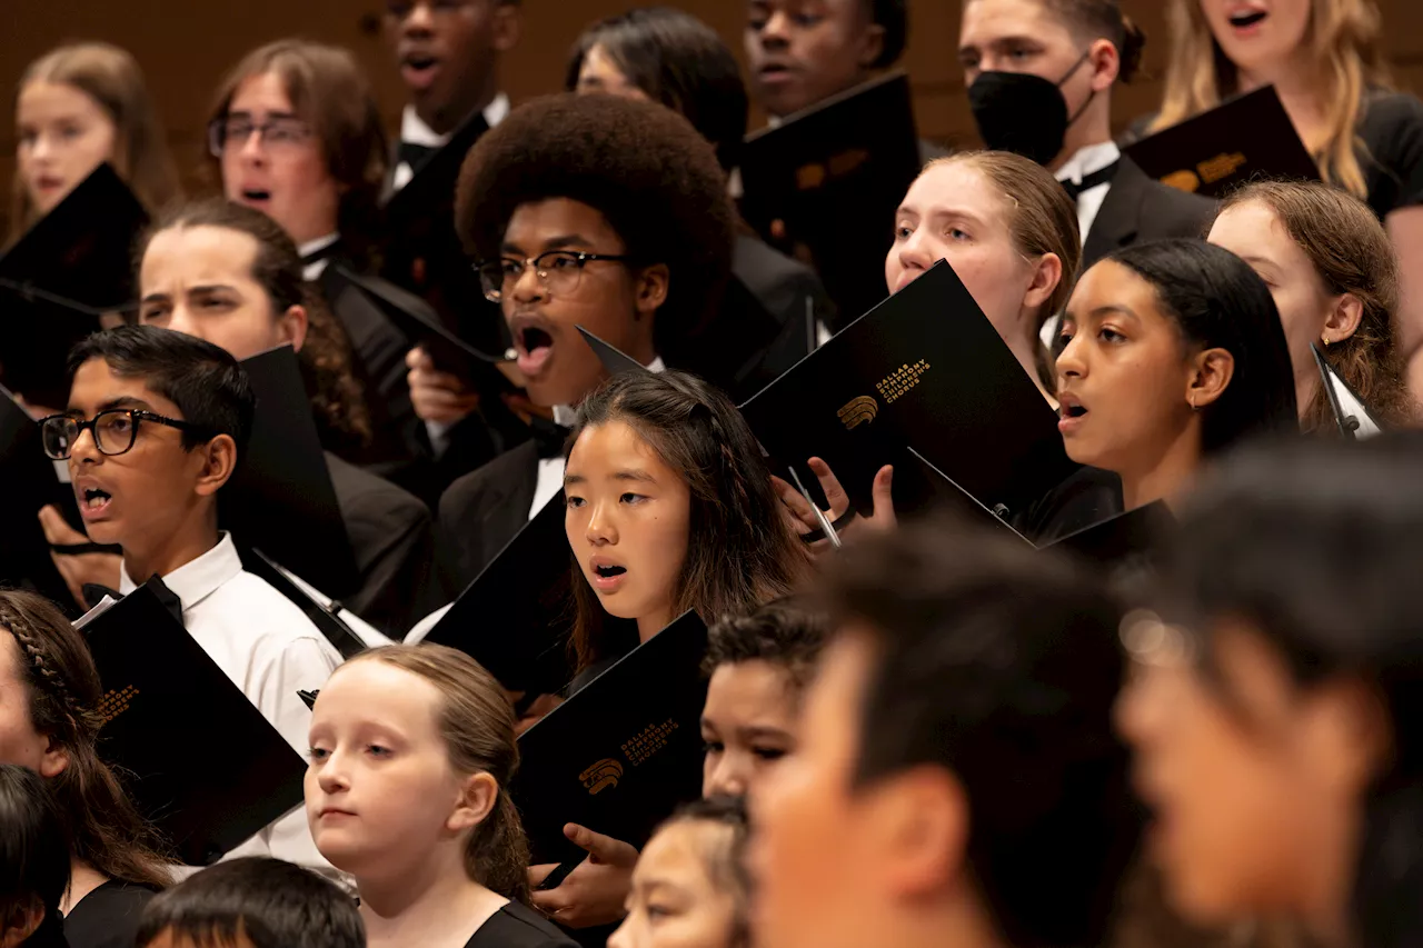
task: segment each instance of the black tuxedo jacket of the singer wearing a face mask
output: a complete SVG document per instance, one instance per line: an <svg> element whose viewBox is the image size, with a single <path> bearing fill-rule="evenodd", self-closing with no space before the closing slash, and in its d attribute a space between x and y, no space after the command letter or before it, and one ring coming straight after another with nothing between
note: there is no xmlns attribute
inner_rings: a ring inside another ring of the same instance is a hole
<svg viewBox="0 0 1423 948"><path fill-rule="evenodd" d="M1154 181L1123 155L1083 243L1081 269L1128 243L1205 236L1214 216L1214 201Z"/></svg>

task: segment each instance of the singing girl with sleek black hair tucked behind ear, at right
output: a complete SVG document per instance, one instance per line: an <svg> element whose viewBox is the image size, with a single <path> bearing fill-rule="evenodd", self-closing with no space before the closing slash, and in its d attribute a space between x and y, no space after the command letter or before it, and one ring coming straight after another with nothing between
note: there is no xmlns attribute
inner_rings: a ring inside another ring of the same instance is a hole
<svg viewBox="0 0 1423 948"><path fill-rule="evenodd" d="M1295 374L1269 289L1202 241L1128 246L1063 313L1059 430L1067 455L1121 477L1126 510L1180 500L1212 455L1298 431Z"/></svg>

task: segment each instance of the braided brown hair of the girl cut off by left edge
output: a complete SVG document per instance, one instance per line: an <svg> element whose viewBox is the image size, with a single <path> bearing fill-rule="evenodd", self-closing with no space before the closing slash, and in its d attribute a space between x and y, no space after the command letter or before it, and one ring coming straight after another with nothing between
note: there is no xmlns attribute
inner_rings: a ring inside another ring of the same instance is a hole
<svg viewBox="0 0 1423 948"><path fill-rule="evenodd" d="M16 643L30 726L68 756L50 789L74 858L115 881L166 888L172 877L157 833L98 759L104 688L84 638L48 599L16 589L0 589L0 628Z"/></svg>

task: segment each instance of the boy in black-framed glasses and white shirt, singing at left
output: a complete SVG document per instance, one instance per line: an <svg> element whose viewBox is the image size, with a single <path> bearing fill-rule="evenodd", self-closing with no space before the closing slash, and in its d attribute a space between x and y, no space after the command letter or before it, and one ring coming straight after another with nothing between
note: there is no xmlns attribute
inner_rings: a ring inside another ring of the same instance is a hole
<svg viewBox="0 0 1423 948"><path fill-rule="evenodd" d="M340 655L302 611L245 572L218 530L218 493L246 448L256 399L223 349L154 326L95 333L70 353L68 409L44 418L44 450L68 463L94 542L124 548L120 592L161 576L188 633L297 752ZM175 749L179 753L181 749ZM269 853L326 868L300 810L231 855Z"/></svg>

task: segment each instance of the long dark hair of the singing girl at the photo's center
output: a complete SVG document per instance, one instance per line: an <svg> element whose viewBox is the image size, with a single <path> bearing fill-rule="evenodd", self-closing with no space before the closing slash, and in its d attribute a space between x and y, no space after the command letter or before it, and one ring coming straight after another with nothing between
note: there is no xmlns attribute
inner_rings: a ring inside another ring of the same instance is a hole
<svg viewBox="0 0 1423 948"><path fill-rule="evenodd" d="M761 448L731 401L683 372L613 376L578 409L572 453L585 428L622 421L692 494L687 555L673 615L694 609L706 622L784 596L808 571L810 555L791 532L761 460ZM579 669L608 658L606 613L573 562Z"/></svg>

